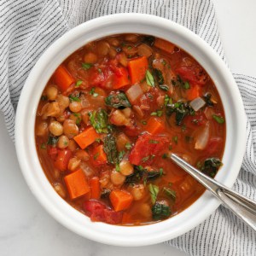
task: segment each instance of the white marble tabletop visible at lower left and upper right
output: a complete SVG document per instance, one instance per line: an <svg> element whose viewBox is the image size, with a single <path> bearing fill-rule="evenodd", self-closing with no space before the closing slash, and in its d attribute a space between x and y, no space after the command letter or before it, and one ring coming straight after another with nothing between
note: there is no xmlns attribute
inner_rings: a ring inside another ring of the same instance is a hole
<svg viewBox="0 0 256 256"><path fill-rule="evenodd" d="M256 1L214 0L230 68L256 76ZM185 255L165 244L112 247L73 234L51 218L28 189L0 114L0 255Z"/></svg>

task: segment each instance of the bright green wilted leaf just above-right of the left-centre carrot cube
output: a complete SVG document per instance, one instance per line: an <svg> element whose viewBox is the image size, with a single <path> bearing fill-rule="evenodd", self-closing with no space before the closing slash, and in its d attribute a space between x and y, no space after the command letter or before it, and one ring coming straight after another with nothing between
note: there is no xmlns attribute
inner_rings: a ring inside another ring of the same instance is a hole
<svg viewBox="0 0 256 256"><path fill-rule="evenodd" d="M111 126L108 125L108 113L106 110L100 108L88 113L90 124L96 130L97 133L108 133Z"/></svg>

